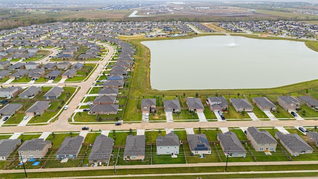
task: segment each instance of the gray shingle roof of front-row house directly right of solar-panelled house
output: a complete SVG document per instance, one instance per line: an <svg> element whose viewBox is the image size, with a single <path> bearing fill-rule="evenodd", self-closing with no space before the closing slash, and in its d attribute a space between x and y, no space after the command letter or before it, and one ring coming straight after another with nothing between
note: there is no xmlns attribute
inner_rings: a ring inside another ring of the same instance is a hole
<svg viewBox="0 0 318 179"><path fill-rule="evenodd" d="M230 148L230 154L231 153L246 154L246 150L244 149L243 145L239 141L239 138L234 132L229 131L224 134L218 133L218 137L225 150L228 151L228 149Z"/></svg>

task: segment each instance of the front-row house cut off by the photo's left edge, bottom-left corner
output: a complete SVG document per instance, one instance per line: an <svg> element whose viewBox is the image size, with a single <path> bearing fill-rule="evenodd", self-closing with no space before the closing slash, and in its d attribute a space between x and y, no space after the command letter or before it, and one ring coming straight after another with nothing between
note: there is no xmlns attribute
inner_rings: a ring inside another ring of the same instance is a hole
<svg viewBox="0 0 318 179"><path fill-rule="evenodd" d="M1 139L0 140L0 161L10 157L12 152L21 144L21 139Z"/></svg>

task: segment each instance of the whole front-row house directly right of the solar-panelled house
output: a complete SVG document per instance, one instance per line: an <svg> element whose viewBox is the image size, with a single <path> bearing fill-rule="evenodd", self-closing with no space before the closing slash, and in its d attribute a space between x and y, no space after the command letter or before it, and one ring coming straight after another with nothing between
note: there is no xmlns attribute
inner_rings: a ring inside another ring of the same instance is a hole
<svg viewBox="0 0 318 179"><path fill-rule="evenodd" d="M229 155L229 157L246 157L246 150L234 132L218 133L217 138L220 141L224 155Z"/></svg>

